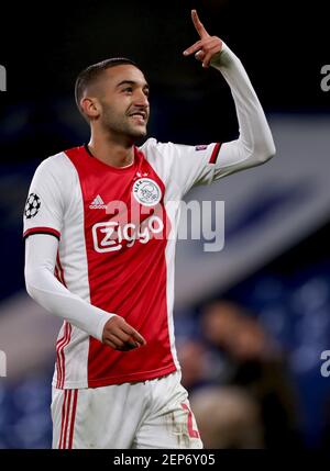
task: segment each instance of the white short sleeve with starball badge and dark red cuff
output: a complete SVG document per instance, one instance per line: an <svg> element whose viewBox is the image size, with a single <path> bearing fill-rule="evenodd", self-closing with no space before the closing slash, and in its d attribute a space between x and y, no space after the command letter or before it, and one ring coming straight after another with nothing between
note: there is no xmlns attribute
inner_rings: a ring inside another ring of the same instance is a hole
<svg viewBox="0 0 330 471"><path fill-rule="evenodd" d="M59 239L64 215L64 189L54 162L44 160L32 179L23 214L23 237L50 234Z"/></svg>

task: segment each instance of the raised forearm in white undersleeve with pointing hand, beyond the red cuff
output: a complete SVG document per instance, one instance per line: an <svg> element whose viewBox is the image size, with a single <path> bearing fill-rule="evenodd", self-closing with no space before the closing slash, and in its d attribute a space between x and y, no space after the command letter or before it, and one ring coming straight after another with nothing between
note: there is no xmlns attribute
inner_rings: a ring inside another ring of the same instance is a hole
<svg viewBox="0 0 330 471"><path fill-rule="evenodd" d="M254 167L275 155L275 145L262 105L248 74L233 52L217 36L210 36L196 10L191 19L199 41L188 47L185 56L195 54L204 67L218 69L231 88L240 126L239 138L223 143L219 153L216 178Z"/></svg>

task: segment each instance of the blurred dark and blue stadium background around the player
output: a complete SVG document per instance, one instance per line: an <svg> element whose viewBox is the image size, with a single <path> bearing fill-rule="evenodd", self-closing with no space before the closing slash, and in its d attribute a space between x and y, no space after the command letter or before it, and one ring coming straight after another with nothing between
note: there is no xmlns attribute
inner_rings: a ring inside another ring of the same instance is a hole
<svg viewBox="0 0 330 471"><path fill-rule="evenodd" d="M184 384L208 447L329 446L330 378L320 356L330 349L330 92L321 91L320 69L330 58L323 2L289 4L56 1L1 11L0 350L8 374L0 378L0 448L51 446L59 323L24 291L22 211L40 161L88 139L73 97L78 71L111 56L136 60L151 82L148 135L158 141L238 135L224 80L182 56L196 41L190 8L245 65L277 156L187 198L226 202L226 246L215 254L202 242L178 243Z"/></svg>

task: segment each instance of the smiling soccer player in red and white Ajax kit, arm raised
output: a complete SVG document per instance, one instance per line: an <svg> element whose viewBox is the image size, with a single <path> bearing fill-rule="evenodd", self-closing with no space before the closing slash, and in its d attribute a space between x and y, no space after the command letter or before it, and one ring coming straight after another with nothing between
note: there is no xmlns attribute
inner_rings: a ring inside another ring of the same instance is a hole
<svg viewBox="0 0 330 471"><path fill-rule="evenodd" d="M206 146L146 135L148 83L130 59L80 72L88 145L45 159L25 212L29 294L64 319L53 380L53 448L201 448L174 345L179 202L194 186L275 153L248 75L191 11L199 41L184 52L229 83L239 138Z"/></svg>

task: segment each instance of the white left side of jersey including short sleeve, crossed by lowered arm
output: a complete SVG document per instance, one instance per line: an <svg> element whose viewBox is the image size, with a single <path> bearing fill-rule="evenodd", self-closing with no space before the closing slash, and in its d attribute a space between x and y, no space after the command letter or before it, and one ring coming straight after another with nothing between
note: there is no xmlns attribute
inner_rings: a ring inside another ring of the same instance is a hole
<svg viewBox="0 0 330 471"><path fill-rule="evenodd" d="M33 208L35 214L31 214ZM57 278L72 293L90 302L81 189L77 171L64 153L45 159L32 180L24 235L35 233L59 238ZM89 335L65 321L56 347L53 384L86 388Z"/></svg>

